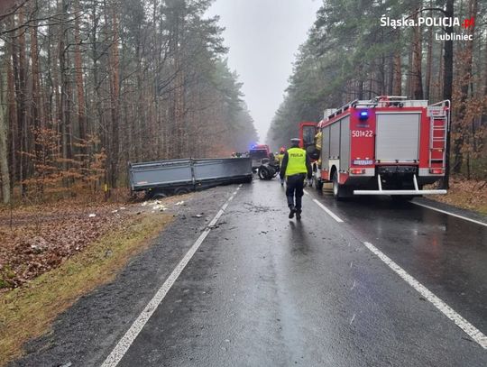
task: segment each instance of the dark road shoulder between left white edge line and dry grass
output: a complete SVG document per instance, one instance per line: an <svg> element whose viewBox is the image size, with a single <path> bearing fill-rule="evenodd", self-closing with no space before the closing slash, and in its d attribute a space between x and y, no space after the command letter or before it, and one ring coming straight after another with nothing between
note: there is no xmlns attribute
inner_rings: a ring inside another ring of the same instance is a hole
<svg viewBox="0 0 487 367"><path fill-rule="evenodd" d="M173 213L174 221L131 259L116 279L79 298L58 317L51 332L26 344L13 366L98 365L124 335L180 257L188 251L230 196L233 187L196 193ZM211 191L211 192L210 192Z"/></svg>

